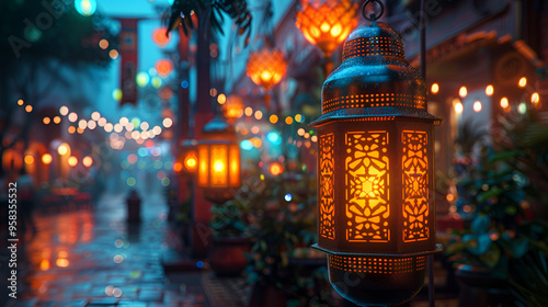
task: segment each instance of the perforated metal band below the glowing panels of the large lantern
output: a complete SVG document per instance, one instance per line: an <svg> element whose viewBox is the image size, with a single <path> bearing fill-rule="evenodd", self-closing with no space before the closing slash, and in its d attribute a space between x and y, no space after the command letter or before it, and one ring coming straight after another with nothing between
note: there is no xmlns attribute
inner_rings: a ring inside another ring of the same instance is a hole
<svg viewBox="0 0 548 307"><path fill-rule="evenodd" d="M329 265L341 271L356 273L395 274L426 269L426 257L387 258L387 257L345 257L329 255Z"/></svg>

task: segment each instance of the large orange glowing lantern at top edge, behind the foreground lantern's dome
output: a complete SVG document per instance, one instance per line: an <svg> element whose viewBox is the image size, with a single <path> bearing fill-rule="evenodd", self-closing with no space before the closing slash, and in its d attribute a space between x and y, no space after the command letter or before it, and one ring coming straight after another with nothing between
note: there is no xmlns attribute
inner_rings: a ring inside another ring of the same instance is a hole
<svg viewBox="0 0 548 307"><path fill-rule="evenodd" d="M357 26L358 4L351 0L327 0L321 5L317 1L306 1L301 5L295 25L326 57L330 57Z"/></svg>

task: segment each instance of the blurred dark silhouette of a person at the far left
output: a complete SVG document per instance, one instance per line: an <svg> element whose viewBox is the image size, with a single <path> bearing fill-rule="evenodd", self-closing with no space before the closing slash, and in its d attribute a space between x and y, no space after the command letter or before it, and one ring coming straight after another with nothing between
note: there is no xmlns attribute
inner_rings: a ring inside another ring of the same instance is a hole
<svg viewBox="0 0 548 307"><path fill-rule="evenodd" d="M31 240L36 235L36 225L33 220L35 191L34 180L26 173L25 168L16 180L18 183L18 215L21 220L21 237L24 239L26 232L31 230Z"/></svg>

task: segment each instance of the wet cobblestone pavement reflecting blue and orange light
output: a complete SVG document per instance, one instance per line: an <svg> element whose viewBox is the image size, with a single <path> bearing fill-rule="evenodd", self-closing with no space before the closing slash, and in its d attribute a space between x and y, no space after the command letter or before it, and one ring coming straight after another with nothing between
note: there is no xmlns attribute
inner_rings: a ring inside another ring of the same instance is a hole
<svg viewBox="0 0 548 307"><path fill-rule="evenodd" d="M92 211L35 216L37 235L22 241L19 297L7 306L209 306L201 272L170 282L161 264L169 248L161 196L141 204L128 226L122 195Z"/></svg>

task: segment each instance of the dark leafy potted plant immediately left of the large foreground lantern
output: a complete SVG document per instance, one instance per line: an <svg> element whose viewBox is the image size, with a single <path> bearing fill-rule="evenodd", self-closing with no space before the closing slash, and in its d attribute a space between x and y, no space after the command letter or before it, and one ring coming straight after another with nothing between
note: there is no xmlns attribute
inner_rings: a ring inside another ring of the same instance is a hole
<svg viewBox="0 0 548 307"><path fill-rule="evenodd" d="M251 204L256 230L247 269L254 284L249 306L311 306L331 299L326 257L309 248L316 241L316 178L286 173L265 179Z"/></svg>

